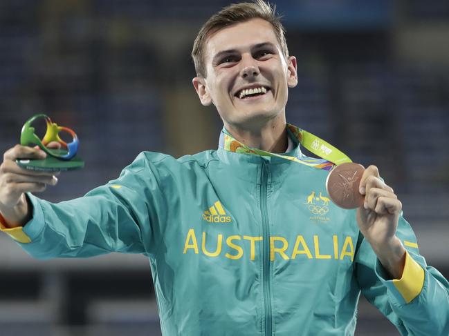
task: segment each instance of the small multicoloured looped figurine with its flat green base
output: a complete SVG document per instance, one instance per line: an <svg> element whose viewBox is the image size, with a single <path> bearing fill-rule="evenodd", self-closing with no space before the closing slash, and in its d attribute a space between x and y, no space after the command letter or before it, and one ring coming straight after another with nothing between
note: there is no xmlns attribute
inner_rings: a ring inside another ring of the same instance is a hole
<svg viewBox="0 0 449 336"><path fill-rule="evenodd" d="M35 128L32 126L32 123L37 119L44 119L46 121L46 133L42 140L35 134ZM60 132L67 132L71 135L72 141L69 143L63 141L61 137L59 137ZM61 148L47 148L46 146L52 141L59 143ZM70 128L58 126L57 123L53 123L47 115L35 115L24 123L20 135L20 144L22 146L37 145L47 154L46 159L43 160L17 159L17 164L23 168L30 170L59 171L84 167L84 161L76 156L80 146L80 141L78 140L76 133Z"/></svg>

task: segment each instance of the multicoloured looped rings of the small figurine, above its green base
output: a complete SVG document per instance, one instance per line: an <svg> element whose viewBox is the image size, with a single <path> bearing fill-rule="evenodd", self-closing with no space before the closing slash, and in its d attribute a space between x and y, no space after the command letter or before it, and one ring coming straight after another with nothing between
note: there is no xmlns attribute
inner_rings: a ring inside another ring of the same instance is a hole
<svg viewBox="0 0 449 336"><path fill-rule="evenodd" d="M39 139L39 137L35 134L35 128L31 126L33 121L41 118L45 119L47 125L47 130L42 140ZM67 144L61 139L61 137L59 137L59 132L68 132L72 136L73 141ZM67 150L67 153L56 154L52 150L46 148L46 145L48 145L51 141L56 141L61 144L62 148L64 148L64 150ZM39 146L39 148L44 150L44 152L46 152L48 155L51 155L52 157L56 157L57 159L62 160L70 160L75 157L78 151L78 147L80 146L80 141L78 140L78 137L73 130L68 127L58 126L57 123L53 123L53 121L51 121L50 117L44 114L40 114L31 117L26 121L26 123L24 123L24 127L22 127L20 135L20 144L22 146L30 146L34 144Z"/></svg>

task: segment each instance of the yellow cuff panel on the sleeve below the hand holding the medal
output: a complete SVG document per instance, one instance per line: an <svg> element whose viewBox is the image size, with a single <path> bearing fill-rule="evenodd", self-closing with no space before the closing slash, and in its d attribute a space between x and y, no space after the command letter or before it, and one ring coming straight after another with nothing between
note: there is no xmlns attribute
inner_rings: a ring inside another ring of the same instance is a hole
<svg viewBox="0 0 449 336"><path fill-rule="evenodd" d="M421 293L424 286L424 270L410 255L405 253L405 266L401 279L393 284L408 304Z"/></svg>

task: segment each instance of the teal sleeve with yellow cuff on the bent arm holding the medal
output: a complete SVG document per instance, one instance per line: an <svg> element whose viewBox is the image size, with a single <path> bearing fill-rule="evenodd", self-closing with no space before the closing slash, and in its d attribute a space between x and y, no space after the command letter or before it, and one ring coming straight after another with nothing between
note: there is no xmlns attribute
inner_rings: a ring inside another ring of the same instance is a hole
<svg viewBox="0 0 449 336"><path fill-rule="evenodd" d="M360 234L354 260L360 290L401 335L449 335L448 280L426 264L414 232L402 215L396 235L407 251L401 279L390 279Z"/></svg>

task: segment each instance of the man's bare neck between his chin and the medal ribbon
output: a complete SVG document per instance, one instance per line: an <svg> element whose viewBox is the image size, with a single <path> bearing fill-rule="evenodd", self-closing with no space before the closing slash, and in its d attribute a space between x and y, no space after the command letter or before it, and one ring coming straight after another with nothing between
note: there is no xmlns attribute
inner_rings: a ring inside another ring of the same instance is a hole
<svg viewBox="0 0 449 336"><path fill-rule="evenodd" d="M288 146L284 116L272 119L257 129L241 128L230 123L225 123L225 127L232 137L251 148L258 148L266 152L283 153Z"/></svg>

